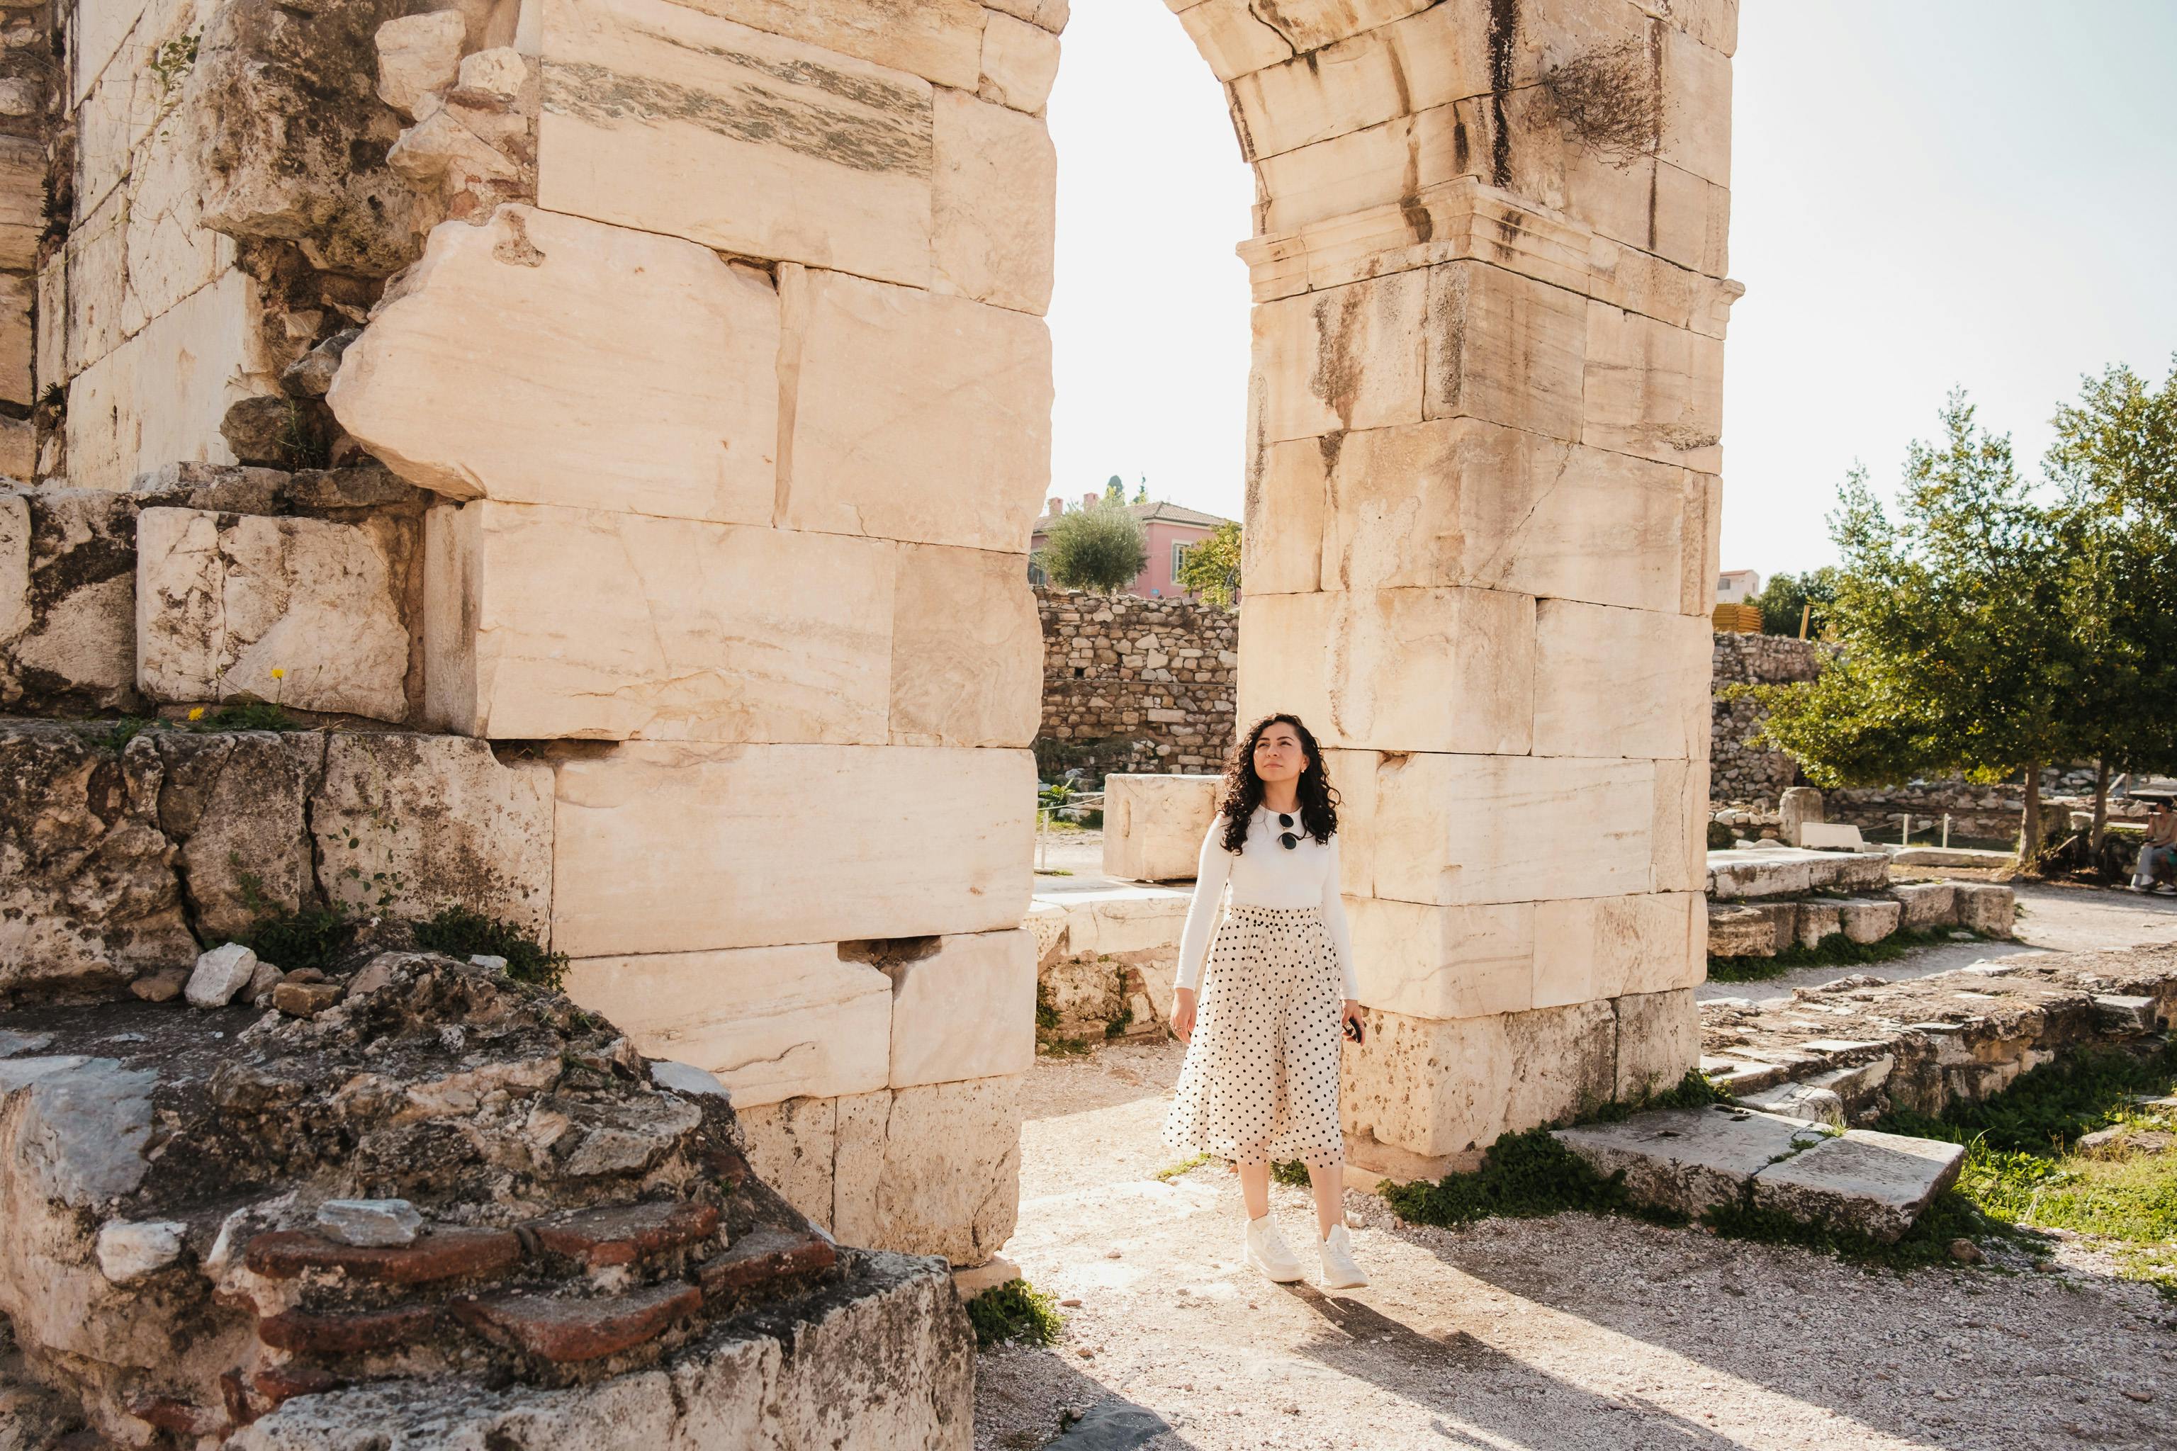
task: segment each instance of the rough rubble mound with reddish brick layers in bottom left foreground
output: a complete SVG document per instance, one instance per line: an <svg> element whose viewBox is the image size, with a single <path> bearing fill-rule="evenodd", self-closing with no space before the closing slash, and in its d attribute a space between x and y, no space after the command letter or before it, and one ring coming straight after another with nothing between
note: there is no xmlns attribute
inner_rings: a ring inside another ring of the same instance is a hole
<svg viewBox="0 0 2177 1451"><path fill-rule="evenodd" d="M488 966L324 988L0 1018L0 1314L102 1436L446 1444L429 1403L601 1447L967 1444L943 1264L812 1229L714 1086Z"/></svg>

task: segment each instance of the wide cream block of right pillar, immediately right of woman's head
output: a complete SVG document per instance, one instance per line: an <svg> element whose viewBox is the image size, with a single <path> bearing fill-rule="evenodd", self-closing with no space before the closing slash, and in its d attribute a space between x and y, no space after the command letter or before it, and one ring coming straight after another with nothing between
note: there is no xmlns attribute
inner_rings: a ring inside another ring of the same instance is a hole
<svg viewBox="0 0 2177 1451"><path fill-rule="evenodd" d="M1341 822L1369 842L1348 892L1409 903L1535 903L1631 896L1655 870L1655 764L1513 755L1385 755ZM1567 809L1565 803L1578 803Z"/></svg>

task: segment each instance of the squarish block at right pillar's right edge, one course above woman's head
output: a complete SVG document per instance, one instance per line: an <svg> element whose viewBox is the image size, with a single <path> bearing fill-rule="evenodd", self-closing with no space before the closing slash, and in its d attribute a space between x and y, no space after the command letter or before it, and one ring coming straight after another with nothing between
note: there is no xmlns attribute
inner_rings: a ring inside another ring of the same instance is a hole
<svg viewBox="0 0 2177 1451"><path fill-rule="evenodd" d="M1535 755L1702 759L1711 624L1698 616L1535 605Z"/></svg>

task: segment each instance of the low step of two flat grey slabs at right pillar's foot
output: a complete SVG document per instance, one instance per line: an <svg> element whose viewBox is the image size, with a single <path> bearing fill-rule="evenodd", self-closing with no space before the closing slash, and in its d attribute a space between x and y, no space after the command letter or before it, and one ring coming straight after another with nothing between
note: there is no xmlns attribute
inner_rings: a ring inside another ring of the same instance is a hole
<svg viewBox="0 0 2177 1451"><path fill-rule="evenodd" d="M1846 1129L1750 1109L1663 1109L1559 1129L1602 1175L1624 1170L1641 1203L1705 1214L1742 1203L1800 1223L1896 1240L1957 1181L1961 1144Z"/></svg>

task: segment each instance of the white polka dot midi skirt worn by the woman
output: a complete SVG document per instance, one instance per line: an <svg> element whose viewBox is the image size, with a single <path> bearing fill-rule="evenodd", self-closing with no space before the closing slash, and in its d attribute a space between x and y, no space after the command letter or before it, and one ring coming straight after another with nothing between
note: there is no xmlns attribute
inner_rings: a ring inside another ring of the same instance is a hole
<svg viewBox="0 0 2177 1451"><path fill-rule="evenodd" d="M1319 907L1228 907L1165 1142L1234 1164L1337 1164L1341 1005Z"/></svg>

